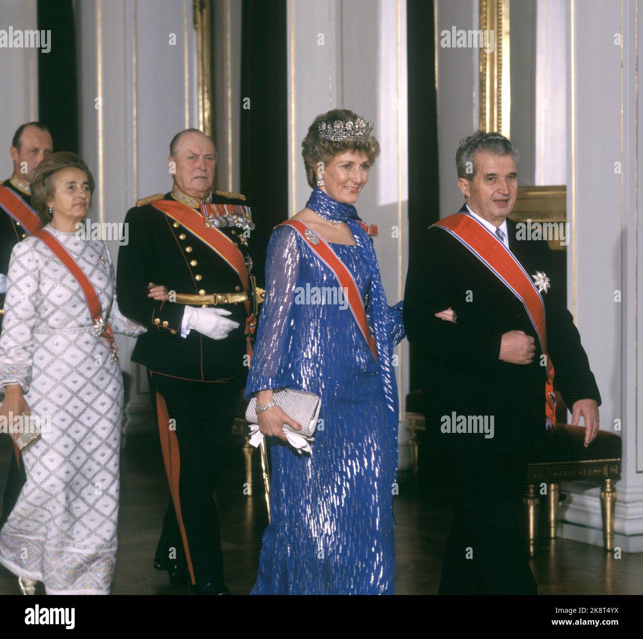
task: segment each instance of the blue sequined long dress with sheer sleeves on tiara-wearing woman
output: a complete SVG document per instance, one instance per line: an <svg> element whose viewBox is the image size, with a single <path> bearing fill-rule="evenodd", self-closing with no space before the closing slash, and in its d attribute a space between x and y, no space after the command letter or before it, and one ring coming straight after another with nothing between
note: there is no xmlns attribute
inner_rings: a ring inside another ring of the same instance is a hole
<svg viewBox="0 0 643 639"><path fill-rule="evenodd" d="M339 205L319 193L326 204ZM302 236L277 227L268 244L266 299L246 398L282 387L314 392L323 422L311 455L268 438L272 523L252 594L393 593L397 390L390 354L404 337L403 302L386 304L371 241L353 223L356 213L350 218L358 245L331 247L363 300L368 293L379 362L350 308L342 308L346 302L306 303L313 298L307 300L305 290L338 282Z"/></svg>

